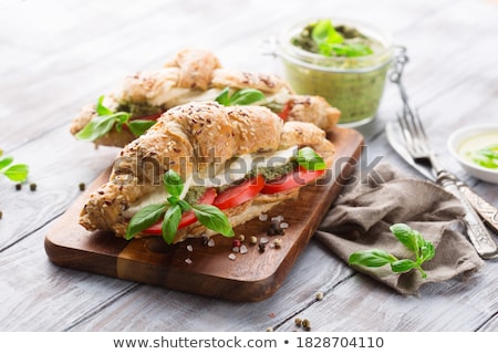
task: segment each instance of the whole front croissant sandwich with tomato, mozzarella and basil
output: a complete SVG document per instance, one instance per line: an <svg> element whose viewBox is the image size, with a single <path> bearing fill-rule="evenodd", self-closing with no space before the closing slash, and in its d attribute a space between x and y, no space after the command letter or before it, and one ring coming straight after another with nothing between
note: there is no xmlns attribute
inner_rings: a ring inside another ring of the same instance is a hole
<svg viewBox="0 0 498 354"><path fill-rule="evenodd" d="M167 243L232 236L323 178L333 159L333 143L312 123L283 122L264 106L190 102L121 149L80 223Z"/></svg>

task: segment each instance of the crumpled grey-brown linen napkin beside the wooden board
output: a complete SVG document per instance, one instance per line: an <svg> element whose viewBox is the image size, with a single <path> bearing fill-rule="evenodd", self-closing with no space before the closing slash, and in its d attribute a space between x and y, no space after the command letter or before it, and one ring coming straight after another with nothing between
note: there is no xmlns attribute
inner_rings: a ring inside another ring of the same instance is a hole
<svg viewBox="0 0 498 354"><path fill-rule="evenodd" d="M484 264L463 233L463 215L459 201L439 186L403 176L383 163L365 180L344 187L314 238L344 262L352 252L372 248L413 259L388 229L407 223L436 249L435 257L422 266L427 278L418 271L393 273L390 266L355 269L402 294L415 294L426 282L467 279Z"/></svg>

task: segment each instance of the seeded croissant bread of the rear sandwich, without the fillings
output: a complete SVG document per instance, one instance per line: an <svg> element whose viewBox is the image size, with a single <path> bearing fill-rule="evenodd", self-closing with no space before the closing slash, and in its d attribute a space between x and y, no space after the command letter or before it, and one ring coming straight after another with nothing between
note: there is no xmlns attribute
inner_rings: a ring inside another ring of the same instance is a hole
<svg viewBox="0 0 498 354"><path fill-rule="evenodd" d="M298 95L280 76L221 67L212 52L186 49L176 54L164 67L142 71L125 77L120 87L104 98L104 105L115 110L120 103L147 103L163 110L176 106L172 98L176 88L188 88L191 101L206 101L211 88L257 88L264 94L281 94L288 100L288 121L309 122L322 129L330 129L339 122L340 111L323 97ZM75 135L96 116L95 105L87 105L74 117L70 132ZM96 139L96 145L124 147L135 136L127 129L115 129Z"/></svg>

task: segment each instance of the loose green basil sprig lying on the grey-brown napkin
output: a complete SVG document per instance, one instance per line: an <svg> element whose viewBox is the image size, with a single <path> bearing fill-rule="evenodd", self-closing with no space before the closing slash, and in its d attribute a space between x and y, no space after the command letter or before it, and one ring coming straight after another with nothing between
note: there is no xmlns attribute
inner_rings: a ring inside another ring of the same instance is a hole
<svg viewBox="0 0 498 354"><path fill-rule="evenodd" d="M400 242L414 252L415 260L397 259L384 250L372 249L351 253L349 259L350 266L357 264L375 268L391 264L391 270L395 273L405 273L416 269L421 272L422 278L427 278L427 274L422 269L422 263L434 258L436 253L434 244L426 241L421 232L405 223L395 223L390 229Z"/></svg>

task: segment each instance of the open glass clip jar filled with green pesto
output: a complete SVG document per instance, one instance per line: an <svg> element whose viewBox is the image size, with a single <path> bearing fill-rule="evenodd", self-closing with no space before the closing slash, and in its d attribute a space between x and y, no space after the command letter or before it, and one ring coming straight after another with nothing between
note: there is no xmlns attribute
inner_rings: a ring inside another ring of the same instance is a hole
<svg viewBox="0 0 498 354"><path fill-rule="evenodd" d="M326 19L326 18L325 18ZM305 51L292 39L321 19L299 22L277 41L286 80L298 94L320 95L341 111L341 126L360 126L374 119L384 92L387 70L393 61L388 33L367 23L330 18L333 25L356 29L378 45L365 56L325 56Z"/></svg>

